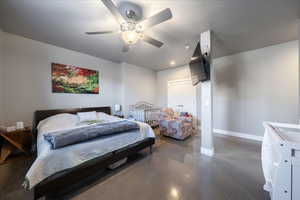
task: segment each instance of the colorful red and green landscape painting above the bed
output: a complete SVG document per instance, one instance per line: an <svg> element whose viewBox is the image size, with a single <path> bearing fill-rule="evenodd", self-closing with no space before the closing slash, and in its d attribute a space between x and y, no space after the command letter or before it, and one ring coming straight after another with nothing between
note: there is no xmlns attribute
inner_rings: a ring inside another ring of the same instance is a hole
<svg viewBox="0 0 300 200"><path fill-rule="evenodd" d="M99 72L52 63L52 92L99 94Z"/></svg>

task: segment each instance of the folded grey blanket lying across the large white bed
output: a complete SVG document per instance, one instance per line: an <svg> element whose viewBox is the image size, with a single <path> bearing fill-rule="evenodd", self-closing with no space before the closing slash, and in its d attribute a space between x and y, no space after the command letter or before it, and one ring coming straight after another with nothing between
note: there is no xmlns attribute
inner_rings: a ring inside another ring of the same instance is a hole
<svg viewBox="0 0 300 200"><path fill-rule="evenodd" d="M131 121L118 121L90 125L73 130L63 130L44 135L45 140L50 142L52 149L67 145L84 142L100 136L126 132L139 129L139 125Z"/></svg>

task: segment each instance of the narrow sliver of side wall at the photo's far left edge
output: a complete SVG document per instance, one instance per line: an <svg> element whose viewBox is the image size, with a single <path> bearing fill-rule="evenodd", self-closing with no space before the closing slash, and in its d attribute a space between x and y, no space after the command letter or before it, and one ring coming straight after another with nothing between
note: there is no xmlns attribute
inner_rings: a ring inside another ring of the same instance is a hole
<svg viewBox="0 0 300 200"><path fill-rule="evenodd" d="M0 125L4 123L4 98L3 98L3 89L4 89L4 75L3 75L3 32L0 29Z"/></svg>

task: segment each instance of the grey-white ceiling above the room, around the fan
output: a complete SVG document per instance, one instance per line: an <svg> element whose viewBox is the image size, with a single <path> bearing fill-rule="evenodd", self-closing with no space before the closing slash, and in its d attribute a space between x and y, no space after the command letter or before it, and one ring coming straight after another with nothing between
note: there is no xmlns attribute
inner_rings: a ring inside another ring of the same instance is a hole
<svg viewBox="0 0 300 200"><path fill-rule="evenodd" d="M121 0L114 0L120 5ZM214 32L214 57L296 40L300 0L136 0L144 17L171 8L173 18L147 34L165 43L137 43L122 53L120 35L85 35L117 30L100 0L1 0L0 25L10 33L114 62L161 70L187 64L202 31ZM191 48L185 50L185 44ZM172 66L174 67L174 66Z"/></svg>

